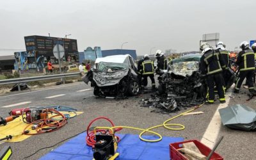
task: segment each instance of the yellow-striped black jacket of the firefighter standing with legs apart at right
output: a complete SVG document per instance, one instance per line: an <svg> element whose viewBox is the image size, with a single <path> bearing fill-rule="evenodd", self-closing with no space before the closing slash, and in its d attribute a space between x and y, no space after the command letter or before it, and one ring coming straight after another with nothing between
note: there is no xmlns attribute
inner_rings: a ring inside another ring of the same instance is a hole
<svg viewBox="0 0 256 160"><path fill-rule="evenodd" d="M244 49L237 56L237 65L240 71L255 70L255 54L252 49Z"/></svg>

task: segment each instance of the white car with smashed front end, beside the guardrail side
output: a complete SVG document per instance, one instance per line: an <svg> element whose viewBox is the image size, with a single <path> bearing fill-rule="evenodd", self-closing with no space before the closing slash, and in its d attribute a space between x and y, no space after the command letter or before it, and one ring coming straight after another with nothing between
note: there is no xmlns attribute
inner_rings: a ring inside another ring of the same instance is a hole
<svg viewBox="0 0 256 160"><path fill-rule="evenodd" d="M93 94L99 97L126 97L138 95L138 71L129 54L97 58L95 65L86 76L91 81Z"/></svg>

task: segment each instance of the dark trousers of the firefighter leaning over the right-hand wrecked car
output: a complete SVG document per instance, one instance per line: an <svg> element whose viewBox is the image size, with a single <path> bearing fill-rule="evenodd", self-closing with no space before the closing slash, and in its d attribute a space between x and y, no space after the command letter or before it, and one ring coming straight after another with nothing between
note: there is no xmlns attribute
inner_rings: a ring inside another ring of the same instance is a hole
<svg viewBox="0 0 256 160"><path fill-rule="evenodd" d="M218 90L218 95L220 98L220 101L225 100L225 90L223 88L223 77L222 73L218 74L211 74L207 76L207 84L208 84L208 93L209 93L209 102L214 101L214 86L216 85Z"/></svg>

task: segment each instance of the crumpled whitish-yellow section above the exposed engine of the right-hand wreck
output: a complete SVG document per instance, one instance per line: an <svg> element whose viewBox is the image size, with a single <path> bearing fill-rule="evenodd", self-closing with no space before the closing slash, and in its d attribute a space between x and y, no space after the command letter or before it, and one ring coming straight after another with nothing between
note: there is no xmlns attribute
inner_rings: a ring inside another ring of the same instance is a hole
<svg viewBox="0 0 256 160"><path fill-rule="evenodd" d="M199 62L198 61L185 61L175 63L170 65L171 73L177 76L189 77L193 74L193 72L199 70Z"/></svg>

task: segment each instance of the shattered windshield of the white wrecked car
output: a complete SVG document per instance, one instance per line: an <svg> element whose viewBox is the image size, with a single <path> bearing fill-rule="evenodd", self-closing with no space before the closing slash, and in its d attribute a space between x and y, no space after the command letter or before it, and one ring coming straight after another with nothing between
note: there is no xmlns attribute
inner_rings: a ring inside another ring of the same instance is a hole
<svg viewBox="0 0 256 160"><path fill-rule="evenodd" d="M128 68L129 65L127 63L111 63L111 62L103 62L101 61L98 65L99 72L113 72L116 70L124 70Z"/></svg>

